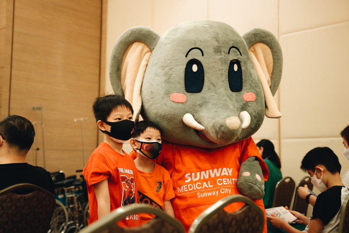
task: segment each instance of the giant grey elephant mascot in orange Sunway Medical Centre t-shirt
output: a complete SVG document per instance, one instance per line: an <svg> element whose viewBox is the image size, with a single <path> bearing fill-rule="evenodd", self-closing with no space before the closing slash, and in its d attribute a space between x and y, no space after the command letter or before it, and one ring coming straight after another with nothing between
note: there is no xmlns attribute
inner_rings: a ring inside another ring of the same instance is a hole
<svg viewBox="0 0 349 233"><path fill-rule="evenodd" d="M141 114L162 128L157 162L171 175L172 206L186 230L228 195L245 195L264 210L268 169L251 135L264 115L281 117L273 99L281 73L280 45L263 29L240 36L225 23L194 21L161 37L134 27L117 40L113 90L132 104L134 119Z"/></svg>

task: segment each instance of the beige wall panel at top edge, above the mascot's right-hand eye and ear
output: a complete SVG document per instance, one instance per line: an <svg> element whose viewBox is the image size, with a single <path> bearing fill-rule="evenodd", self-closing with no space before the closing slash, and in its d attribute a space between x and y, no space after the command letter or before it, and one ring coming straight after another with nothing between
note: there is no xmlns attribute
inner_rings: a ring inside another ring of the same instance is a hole
<svg viewBox="0 0 349 233"><path fill-rule="evenodd" d="M208 20L227 23L240 35L263 28L277 36L277 0L209 0Z"/></svg>

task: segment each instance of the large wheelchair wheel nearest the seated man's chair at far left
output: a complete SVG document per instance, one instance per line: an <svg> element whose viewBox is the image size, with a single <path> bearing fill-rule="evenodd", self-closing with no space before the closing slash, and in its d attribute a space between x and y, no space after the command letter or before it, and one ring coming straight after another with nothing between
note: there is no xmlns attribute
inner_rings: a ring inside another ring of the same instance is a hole
<svg viewBox="0 0 349 233"><path fill-rule="evenodd" d="M54 209L50 228L47 233L65 233L68 226L68 212L65 206L56 200L56 207Z"/></svg>

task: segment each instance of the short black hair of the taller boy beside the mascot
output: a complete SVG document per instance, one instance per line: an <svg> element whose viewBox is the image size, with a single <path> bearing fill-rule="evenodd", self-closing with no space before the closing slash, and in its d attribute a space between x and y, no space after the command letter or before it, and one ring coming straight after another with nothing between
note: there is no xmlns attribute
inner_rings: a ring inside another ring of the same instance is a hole
<svg viewBox="0 0 349 233"><path fill-rule="evenodd" d="M95 103L92 106L93 113L95 114L96 122L106 121L110 113L117 107L125 107L131 110L133 115L132 105L122 96L119 95L106 95L97 97Z"/></svg>

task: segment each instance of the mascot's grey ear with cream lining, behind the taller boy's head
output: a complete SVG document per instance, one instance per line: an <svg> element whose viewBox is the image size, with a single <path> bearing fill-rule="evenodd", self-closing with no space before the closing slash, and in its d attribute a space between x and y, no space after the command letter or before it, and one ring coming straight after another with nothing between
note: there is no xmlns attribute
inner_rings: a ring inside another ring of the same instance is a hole
<svg viewBox="0 0 349 233"><path fill-rule="evenodd" d="M114 93L131 103L138 120L141 112L141 87L144 73L160 36L147 27L128 29L114 44L109 65L109 76Z"/></svg>

